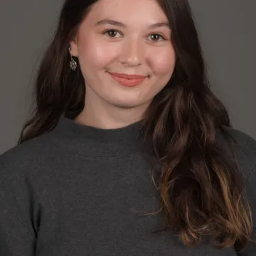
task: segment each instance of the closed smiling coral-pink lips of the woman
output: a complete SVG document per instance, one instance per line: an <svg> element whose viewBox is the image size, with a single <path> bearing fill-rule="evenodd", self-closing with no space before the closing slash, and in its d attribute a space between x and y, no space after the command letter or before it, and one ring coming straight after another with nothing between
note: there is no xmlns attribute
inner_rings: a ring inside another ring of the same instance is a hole
<svg viewBox="0 0 256 256"><path fill-rule="evenodd" d="M109 73L111 77L119 83L126 87L134 87L140 85L147 78L144 75L127 75L120 73Z"/></svg>

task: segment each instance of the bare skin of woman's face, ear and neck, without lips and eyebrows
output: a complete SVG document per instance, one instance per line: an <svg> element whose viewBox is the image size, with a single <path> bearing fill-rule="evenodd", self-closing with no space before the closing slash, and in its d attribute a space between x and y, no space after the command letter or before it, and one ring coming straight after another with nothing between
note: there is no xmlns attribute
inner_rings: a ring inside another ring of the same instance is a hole
<svg viewBox="0 0 256 256"><path fill-rule="evenodd" d="M101 23L110 19L125 27ZM175 52L168 18L155 0L100 0L70 41L85 78L85 108L76 122L102 129L125 127L142 119L154 96L169 82ZM109 72L146 75L136 87L124 87Z"/></svg>

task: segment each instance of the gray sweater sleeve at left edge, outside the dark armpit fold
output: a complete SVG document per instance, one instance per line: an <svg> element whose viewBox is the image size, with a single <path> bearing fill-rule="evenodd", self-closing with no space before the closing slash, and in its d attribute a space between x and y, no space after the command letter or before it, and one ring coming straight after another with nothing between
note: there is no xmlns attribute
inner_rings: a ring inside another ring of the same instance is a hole
<svg viewBox="0 0 256 256"><path fill-rule="evenodd" d="M22 164L0 157L0 255L36 255L31 192Z"/></svg>

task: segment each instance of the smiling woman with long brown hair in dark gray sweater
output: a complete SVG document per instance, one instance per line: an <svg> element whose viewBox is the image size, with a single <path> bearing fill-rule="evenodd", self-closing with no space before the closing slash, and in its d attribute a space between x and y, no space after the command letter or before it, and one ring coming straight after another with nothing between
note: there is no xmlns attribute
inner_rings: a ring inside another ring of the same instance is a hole
<svg viewBox="0 0 256 256"><path fill-rule="evenodd" d="M188 1L66 0L0 158L1 255L255 255L255 153Z"/></svg>

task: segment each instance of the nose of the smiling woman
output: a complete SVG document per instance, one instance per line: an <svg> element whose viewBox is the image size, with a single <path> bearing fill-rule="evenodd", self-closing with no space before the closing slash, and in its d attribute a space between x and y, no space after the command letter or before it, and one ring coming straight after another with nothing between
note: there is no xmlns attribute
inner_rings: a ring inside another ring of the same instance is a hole
<svg viewBox="0 0 256 256"><path fill-rule="evenodd" d="M134 38L127 40L122 46L120 61L123 65L137 66L142 64L142 43Z"/></svg>

